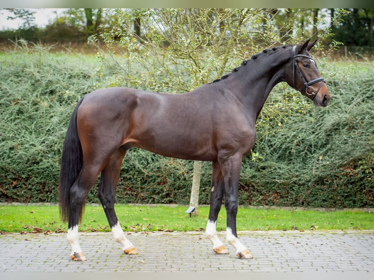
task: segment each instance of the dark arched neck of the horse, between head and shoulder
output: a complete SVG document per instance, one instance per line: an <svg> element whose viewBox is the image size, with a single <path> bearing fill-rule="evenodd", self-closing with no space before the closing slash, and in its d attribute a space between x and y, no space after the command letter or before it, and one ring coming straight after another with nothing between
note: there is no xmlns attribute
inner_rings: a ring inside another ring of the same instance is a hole
<svg viewBox="0 0 374 280"><path fill-rule="evenodd" d="M247 65L242 66L238 75L231 75L229 87L236 88L234 94L241 100L249 114L255 114L257 119L265 101L273 87L285 81L286 68L292 67L291 49L268 50L261 53L256 59L248 60ZM229 79L228 79L229 81Z"/></svg>

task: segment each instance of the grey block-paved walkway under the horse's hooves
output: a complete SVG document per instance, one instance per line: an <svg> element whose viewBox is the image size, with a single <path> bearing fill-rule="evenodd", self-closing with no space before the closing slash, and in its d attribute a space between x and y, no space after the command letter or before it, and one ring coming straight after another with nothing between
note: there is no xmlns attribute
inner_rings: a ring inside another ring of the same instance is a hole
<svg viewBox="0 0 374 280"><path fill-rule="evenodd" d="M2 235L0 272L374 272L373 230L240 232L252 260L238 259L231 246L229 255L215 255L203 232L127 237L138 255L123 254L109 233L82 233L87 261L75 262L65 234Z"/></svg>

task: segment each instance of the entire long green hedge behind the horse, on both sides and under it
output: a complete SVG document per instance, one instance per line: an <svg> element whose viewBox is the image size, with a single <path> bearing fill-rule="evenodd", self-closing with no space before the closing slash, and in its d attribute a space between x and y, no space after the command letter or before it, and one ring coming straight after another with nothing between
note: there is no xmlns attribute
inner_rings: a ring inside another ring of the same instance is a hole
<svg viewBox="0 0 374 280"><path fill-rule="evenodd" d="M57 202L62 142L75 103L105 84L90 56L27 47L0 55L0 201ZM326 63L332 98L284 123L258 125L253 154L243 160L241 205L374 207L374 67ZM275 88L265 106L297 93ZM259 123L261 123L261 118ZM274 129L276 128L276 129ZM193 162L140 149L125 157L118 203L188 204ZM201 204L209 203L211 163L204 162ZM93 187L88 202L99 202Z"/></svg>

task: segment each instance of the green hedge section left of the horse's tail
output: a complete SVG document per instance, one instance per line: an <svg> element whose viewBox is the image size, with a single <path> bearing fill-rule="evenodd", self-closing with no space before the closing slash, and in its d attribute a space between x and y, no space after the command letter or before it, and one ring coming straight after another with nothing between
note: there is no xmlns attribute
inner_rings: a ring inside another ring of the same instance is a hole
<svg viewBox="0 0 374 280"><path fill-rule="evenodd" d="M94 86L92 63L24 45L0 64L0 200L57 201L62 141L76 101Z"/></svg>

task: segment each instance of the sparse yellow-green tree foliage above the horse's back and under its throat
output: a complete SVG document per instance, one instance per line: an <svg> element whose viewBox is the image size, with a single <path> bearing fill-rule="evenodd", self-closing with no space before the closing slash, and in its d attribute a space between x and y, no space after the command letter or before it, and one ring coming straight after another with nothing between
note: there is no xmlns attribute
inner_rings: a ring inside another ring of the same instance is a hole
<svg viewBox="0 0 374 280"><path fill-rule="evenodd" d="M128 86L156 92L180 93L220 78L242 60L264 48L319 39L319 47L330 40L331 26L317 19L318 34L309 32L310 9L115 9L114 27L104 28L99 38L107 47L100 50L96 75L107 86ZM337 22L344 10L336 10ZM309 19L308 19L309 17ZM141 18L141 36L133 22ZM304 23L300 24L300 19ZM285 92L285 84L278 87ZM284 110L268 102L257 122L278 124L309 106L295 91L287 90ZM277 130L277 127L274 128Z"/></svg>

